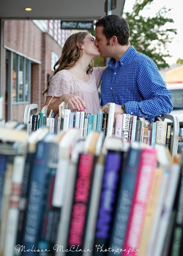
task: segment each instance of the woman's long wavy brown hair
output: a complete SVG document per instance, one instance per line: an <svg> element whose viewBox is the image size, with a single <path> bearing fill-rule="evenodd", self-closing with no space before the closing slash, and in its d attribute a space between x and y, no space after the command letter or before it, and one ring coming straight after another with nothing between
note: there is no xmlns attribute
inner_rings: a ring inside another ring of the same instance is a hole
<svg viewBox="0 0 183 256"><path fill-rule="evenodd" d="M60 59L54 64L53 76L60 70L63 70L63 69L68 70L69 68L73 67L76 61L81 58L82 51L77 47L77 43L83 44L83 40L88 34L89 32L78 32L70 35L69 38L67 38L62 49L62 55ZM55 67L57 65L59 65L59 67L57 67L56 69ZM93 71L93 60L90 62L89 68L86 73L89 74L92 71ZM48 82L48 87L49 87L49 84L50 84L50 81ZM48 92L48 88L44 91L43 96L47 92Z"/></svg>

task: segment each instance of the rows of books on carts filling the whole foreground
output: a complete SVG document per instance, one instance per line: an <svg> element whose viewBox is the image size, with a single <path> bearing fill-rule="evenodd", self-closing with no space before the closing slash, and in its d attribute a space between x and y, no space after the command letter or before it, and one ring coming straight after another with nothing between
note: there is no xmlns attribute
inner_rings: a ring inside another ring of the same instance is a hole
<svg viewBox="0 0 183 256"><path fill-rule="evenodd" d="M0 125L0 256L182 255L177 120L114 107Z"/></svg>

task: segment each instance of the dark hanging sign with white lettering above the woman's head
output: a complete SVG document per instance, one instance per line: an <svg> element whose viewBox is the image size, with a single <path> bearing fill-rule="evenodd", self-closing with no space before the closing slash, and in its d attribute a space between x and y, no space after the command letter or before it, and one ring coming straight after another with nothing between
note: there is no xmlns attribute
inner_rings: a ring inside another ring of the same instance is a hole
<svg viewBox="0 0 183 256"><path fill-rule="evenodd" d="M93 29L93 21L91 20L60 20L61 29Z"/></svg>

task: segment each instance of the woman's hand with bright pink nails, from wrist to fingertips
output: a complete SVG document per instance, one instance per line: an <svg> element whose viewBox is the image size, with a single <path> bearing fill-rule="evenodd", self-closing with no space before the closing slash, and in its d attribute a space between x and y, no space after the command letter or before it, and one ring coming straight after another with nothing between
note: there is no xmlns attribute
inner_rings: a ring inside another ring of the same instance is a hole
<svg viewBox="0 0 183 256"><path fill-rule="evenodd" d="M73 110L83 111L83 108L86 109L86 104L79 96L74 94L63 94L60 96L62 101L68 103Z"/></svg>

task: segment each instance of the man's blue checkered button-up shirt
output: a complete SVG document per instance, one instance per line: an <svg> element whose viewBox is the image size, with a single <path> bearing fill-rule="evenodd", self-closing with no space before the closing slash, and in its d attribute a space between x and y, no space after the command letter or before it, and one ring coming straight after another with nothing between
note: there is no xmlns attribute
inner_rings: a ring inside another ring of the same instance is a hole
<svg viewBox="0 0 183 256"><path fill-rule="evenodd" d="M102 75L101 103L125 104L126 113L154 120L173 109L171 92L154 61L131 46L115 61L112 58Z"/></svg>

